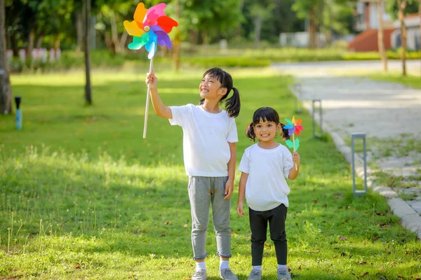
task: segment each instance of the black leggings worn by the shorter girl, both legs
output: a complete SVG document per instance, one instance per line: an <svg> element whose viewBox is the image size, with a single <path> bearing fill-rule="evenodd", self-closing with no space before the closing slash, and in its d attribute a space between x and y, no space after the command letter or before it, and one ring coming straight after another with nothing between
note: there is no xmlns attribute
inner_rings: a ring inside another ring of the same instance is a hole
<svg viewBox="0 0 421 280"><path fill-rule="evenodd" d="M248 208L251 229L251 265L262 265L263 248L269 222L270 239L274 241L278 265L286 265L288 246L286 243L285 220L288 208L281 204L268 211L254 211Z"/></svg>

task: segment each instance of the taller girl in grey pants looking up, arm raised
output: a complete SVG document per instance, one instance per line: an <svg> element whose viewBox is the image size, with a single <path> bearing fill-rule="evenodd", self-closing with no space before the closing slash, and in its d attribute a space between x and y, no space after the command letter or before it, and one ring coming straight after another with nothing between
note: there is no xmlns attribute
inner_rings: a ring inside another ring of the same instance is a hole
<svg viewBox="0 0 421 280"><path fill-rule="evenodd" d="M235 119L240 112L239 91L233 87L226 71L212 68L203 74L199 85L198 106L164 106L156 87L154 72L147 73L152 105L158 116L168 118L171 125L183 130L183 155L189 176L189 200L192 211L192 245L196 271L192 280L206 280L206 231L209 207L216 234L220 276L238 280L229 269L231 230L229 228L230 197L234 189L236 147ZM227 98L232 92L232 96ZM225 101L226 111L220 109Z"/></svg>

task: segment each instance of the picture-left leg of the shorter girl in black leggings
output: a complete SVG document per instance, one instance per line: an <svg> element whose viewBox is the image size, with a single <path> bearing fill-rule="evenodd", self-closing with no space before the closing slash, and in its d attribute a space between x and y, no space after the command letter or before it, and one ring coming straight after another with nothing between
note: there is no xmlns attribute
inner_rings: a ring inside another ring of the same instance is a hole
<svg viewBox="0 0 421 280"><path fill-rule="evenodd" d="M267 234L267 211L254 211L248 208L251 230L251 265L262 265L263 248Z"/></svg>

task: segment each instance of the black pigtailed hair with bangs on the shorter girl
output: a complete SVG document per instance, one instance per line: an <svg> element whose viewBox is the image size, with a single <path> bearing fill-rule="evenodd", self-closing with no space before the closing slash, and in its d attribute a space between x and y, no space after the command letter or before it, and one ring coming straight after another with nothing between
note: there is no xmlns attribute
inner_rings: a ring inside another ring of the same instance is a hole
<svg viewBox="0 0 421 280"><path fill-rule="evenodd" d="M251 140L255 141L256 134L254 132L255 125L258 125L260 121L266 121L266 122L274 122L276 125L281 124L281 134L282 138L284 140L289 139L288 130L283 128L285 125L279 121L279 114L276 112L275 109L272 109L270 107L261 107L255 111L253 114L253 122L250 123L246 128L246 137L250 138Z"/></svg>

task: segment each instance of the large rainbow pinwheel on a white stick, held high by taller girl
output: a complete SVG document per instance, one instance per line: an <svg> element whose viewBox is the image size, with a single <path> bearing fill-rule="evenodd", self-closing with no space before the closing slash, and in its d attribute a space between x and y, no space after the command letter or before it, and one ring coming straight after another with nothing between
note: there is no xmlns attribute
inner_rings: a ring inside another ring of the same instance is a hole
<svg viewBox="0 0 421 280"><path fill-rule="evenodd" d="M171 40L168 33L173 27L177 27L178 23L165 15L163 9L166 3L159 3L151 8L145 8L144 3L138 3L133 21L125 20L124 28L129 35L133 36L133 42L128 44L131 50L139 50L143 46L148 52L147 57L151 60L149 64L149 73L152 72L154 55L157 45L167 46L171 48ZM147 87L146 109L145 109L145 126L143 128L143 138L146 138L147 113L149 108L149 85Z"/></svg>

